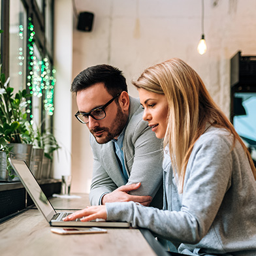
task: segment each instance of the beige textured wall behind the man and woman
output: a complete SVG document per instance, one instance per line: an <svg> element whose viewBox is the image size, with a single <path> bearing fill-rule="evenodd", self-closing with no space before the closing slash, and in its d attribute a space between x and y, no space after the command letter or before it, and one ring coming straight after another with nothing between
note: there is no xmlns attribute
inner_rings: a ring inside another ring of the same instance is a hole
<svg viewBox="0 0 256 256"><path fill-rule="evenodd" d="M77 12L95 14L93 31L73 31L72 76L108 63L131 80L150 65L180 57L204 80L229 116L230 59L238 50L256 56L256 1L205 0L204 34L208 50L200 56L200 0L75 0ZM72 10L71 10L72 11ZM74 22L76 24L76 22ZM77 111L75 97L72 114ZM92 153L86 126L72 118L72 191L88 192Z"/></svg>

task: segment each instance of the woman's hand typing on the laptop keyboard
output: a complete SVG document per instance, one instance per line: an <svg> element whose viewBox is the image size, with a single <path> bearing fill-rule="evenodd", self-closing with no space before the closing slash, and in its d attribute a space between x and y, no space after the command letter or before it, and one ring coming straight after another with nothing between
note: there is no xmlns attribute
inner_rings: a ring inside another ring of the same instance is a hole
<svg viewBox="0 0 256 256"><path fill-rule="evenodd" d="M106 206L88 206L84 210L74 212L73 214L63 218L63 221L73 221L80 219L80 221L91 221L93 219L106 219Z"/></svg>

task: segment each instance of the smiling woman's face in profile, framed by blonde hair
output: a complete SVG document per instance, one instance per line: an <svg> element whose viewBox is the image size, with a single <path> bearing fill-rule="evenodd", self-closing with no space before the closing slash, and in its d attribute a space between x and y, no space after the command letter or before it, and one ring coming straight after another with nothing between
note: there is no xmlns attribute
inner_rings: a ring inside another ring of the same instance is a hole
<svg viewBox="0 0 256 256"><path fill-rule="evenodd" d="M148 121L157 138L164 138L167 131L168 104L165 95L138 89L140 104L144 108L143 120Z"/></svg>

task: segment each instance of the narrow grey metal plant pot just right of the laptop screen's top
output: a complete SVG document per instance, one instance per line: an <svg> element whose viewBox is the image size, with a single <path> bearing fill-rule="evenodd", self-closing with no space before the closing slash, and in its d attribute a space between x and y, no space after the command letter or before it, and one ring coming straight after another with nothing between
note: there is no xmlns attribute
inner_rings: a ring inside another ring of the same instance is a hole
<svg viewBox="0 0 256 256"><path fill-rule="evenodd" d="M42 157L44 150L42 148L33 148L31 154L30 170L37 180L42 177Z"/></svg>

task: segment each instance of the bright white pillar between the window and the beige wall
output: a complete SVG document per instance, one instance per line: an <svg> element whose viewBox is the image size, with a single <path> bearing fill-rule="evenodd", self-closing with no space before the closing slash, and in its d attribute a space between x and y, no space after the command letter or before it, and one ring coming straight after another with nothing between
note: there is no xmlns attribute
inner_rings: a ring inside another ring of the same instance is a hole
<svg viewBox="0 0 256 256"><path fill-rule="evenodd" d="M63 15L65 14L65 15ZM61 149L54 155L54 178L71 174L72 146L72 0L55 0L54 135Z"/></svg>

